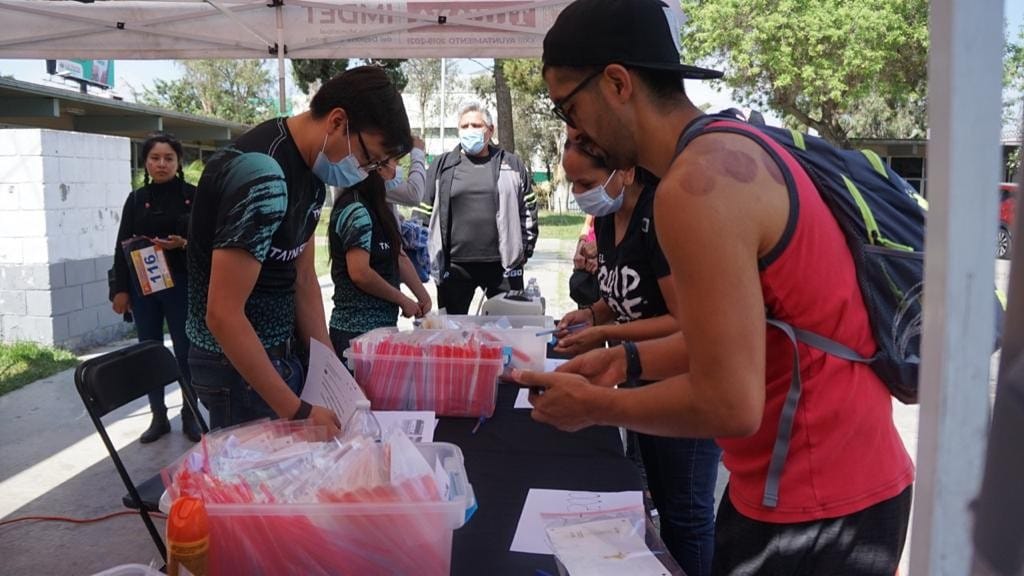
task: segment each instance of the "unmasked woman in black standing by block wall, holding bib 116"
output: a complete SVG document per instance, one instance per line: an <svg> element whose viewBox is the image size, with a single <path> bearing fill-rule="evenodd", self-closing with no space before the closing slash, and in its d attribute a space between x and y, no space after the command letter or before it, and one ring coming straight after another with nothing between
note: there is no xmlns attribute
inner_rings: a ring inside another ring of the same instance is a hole
<svg viewBox="0 0 1024 576"><path fill-rule="evenodd" d="M164 321L174 342L174 357L181 377L189 378L188 337L185 335L188 273L185 266L185 237L196 187L184 181L181 169L181 142L169 134L157 134L142 143L145 180L142 188L128 195L121 212L121 228L114 246L114 312L131 312L135 318L138 340L164 340ZM143 295L135 268L122 243L143 237L164 250L173 286ZM153 442L171 430L164 404L164 390L150 393L153 421L139 442ZM181 427L193 442L200 439L200 428L184 405Z"/></svg>

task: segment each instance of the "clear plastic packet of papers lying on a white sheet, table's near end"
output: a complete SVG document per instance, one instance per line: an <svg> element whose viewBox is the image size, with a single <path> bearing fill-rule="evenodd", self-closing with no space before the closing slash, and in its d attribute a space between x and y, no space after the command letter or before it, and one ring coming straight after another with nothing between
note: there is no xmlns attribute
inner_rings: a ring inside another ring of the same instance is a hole
<svg viewBox="0 0 1024 576"><path fill-rule="evenodd" d="M569 574L670 576L630 519L614 518L548 528L555 556Z"/></svg>

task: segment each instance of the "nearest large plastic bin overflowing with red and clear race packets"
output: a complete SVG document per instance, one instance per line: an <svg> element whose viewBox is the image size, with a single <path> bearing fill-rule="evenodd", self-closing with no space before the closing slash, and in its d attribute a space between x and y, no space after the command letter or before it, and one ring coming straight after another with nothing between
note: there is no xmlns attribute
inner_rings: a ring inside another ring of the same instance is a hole
<svg viewBox="0 0 1024 576"><path fill-rule="evenodd" d="M209 574L447 574L475 507L458 447L342 442L309 421L215 430L163 472L204 501Z"/></svg>

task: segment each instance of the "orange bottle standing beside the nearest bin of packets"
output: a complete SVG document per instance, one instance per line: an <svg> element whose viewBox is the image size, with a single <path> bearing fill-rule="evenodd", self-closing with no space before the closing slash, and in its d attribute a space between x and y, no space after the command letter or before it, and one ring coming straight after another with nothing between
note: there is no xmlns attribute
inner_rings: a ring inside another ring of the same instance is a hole
<svg viewBox="0 0 1024 576"><path fill-rule="evenodd" d="M174 500L167 517L168 576L206 576L209 552L210 521L203 501L191 496Z"/></svg>

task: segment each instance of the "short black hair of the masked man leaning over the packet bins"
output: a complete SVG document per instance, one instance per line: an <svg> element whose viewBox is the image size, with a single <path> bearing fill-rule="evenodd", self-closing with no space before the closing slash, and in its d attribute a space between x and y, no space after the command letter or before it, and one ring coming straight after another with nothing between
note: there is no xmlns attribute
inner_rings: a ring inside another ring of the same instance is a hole
<svg viewBox="0 0 1024 576"><path fill-rule="evenodd" d="M388 156L402 156L413 150L406 105L383 68L360 66L346 70L325 82L309 102L309 112L317 120L336 108L348 115L350 131L374 131L384 136Z"/></svg>

